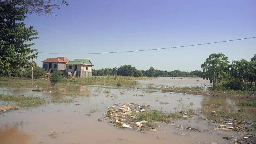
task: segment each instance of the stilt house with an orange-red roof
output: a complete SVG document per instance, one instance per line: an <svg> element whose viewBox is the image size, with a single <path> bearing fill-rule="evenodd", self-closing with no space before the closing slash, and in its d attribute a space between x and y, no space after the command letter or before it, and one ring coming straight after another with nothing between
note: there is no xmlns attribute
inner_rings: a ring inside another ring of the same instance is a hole
<svg viewBox="0 0 256 144"><path fill-rule="evenodd" d="M69 62L67 58L57 57L57 58L47 58L43 60L43 68L46 69L46 72L51 72L53 70L65 70L66 63Z"/></svg>

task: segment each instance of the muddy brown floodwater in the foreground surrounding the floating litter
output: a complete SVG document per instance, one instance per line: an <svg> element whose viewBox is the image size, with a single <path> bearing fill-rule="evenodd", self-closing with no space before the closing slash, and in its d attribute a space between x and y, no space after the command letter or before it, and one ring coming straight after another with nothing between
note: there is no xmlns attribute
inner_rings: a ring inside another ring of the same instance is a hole
<svg viewBox="0 0 256 144"><path fill-rule="evenodd" d="M193 103L191 108L204 108L206 110L236 111L241 106L240 100L227 98L214 98L208 96L185 95L178 93L149 93L146 90L108 88L101 86L76 86L72 90L60 86L56 89L44 88L43 92L33 92L32 89L0 88L0 93L15 95L34 95L45 98L68 98L76 102L68 104L47 104L38 108L20 108L0 115L0 144L225 144L232 140L225 140L223 136L238 136L236 132L222 130L210 131L216 126L209 126L205 120L182 119L173 120L173 126L162 124L156 128L157 132L142 133L130 129L119 129L111 124L98 122L104 118L107 106L134 102L147 104L154 110L166 112L179 111L182 104ZM110 93L104 91L110 90ZM51 91L51 92L49 92ZM121 92L123 94L121 94ZM76 95L76 96L74 96ZM141 95L141 96L140 96ZM166 95L166 96L165 96ZM182 98L182 99L181 99ZM181 102L179 101L181 99ZM167 102L160 104L156 100ZM76 106L75 104L80 104ZM216 108L211 104L218 104ZM256 120L255 108L244 107L246 113ZM90 110L97 110L87 116ZM201 116L204 117L204 116ZM177 125L192 126L204 129L204 132L178 130ZM218 125L218 124L217 124ZM50 132L57 132L56 138ZM181 135L182 134L182 135Z"/></svg>

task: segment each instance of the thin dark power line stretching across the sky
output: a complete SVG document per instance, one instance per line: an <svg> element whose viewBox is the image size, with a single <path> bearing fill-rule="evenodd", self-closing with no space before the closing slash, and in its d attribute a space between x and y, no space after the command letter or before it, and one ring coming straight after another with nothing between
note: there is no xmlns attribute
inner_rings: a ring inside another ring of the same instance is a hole
<svg viewBox="0 0 256 144"><path fill-rule="evenodd" d="M250 38L256 38L256 36L250 37ZM236 40L245 40L245 39L250 39L250 38L240 38L240 39L236 39ZM209 43L204 43L204 44L193 44L193 45L176 46L176 47L170 47L170 48L200 46L200 45L206 45L206 44L216 44L216 43L221 43L221 42L231 42L231 41L236 41L236 40L225 40L225 41L220 41L220 42L209 42ZM155 48L155 49L148 49L148 50L130 50L130 51L121 51L121 52L95 52L95 53L80 53L80 54L113 54L113 53L124 53L124 52L142 52L142 51L150 51L150 50L164 50L164 49L170 49L170 48ZM51 53L51 52L39 52L39 53L42 53L42 54L78 54L78 53Z"/></svg>

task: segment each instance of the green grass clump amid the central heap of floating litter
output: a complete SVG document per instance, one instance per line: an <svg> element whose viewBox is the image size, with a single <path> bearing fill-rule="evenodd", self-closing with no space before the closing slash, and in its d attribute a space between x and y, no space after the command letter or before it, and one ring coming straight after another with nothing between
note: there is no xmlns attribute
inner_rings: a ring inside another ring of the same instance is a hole
<svg viewBox="0 0 256 144"><path fill-rule="evenodd" d="M172 118L181 118L181 115L178 113L169 113L163 114L158 110L152 112L143 112L136 116L138 121L145 120L147 121L147 126L152 126L154 122L170 122Z"/></svg>

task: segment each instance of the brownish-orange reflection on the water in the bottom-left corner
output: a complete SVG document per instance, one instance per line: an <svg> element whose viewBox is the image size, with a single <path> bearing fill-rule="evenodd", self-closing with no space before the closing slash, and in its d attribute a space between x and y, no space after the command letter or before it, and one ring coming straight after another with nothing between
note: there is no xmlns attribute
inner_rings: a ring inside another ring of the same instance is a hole
<svg viewBox="0 0 256 144"><path fill-rule="evenodd" d="M34 136L22 131L19 124L5 124L0 128L0 143L2 144L28 144Z"/></svg>

